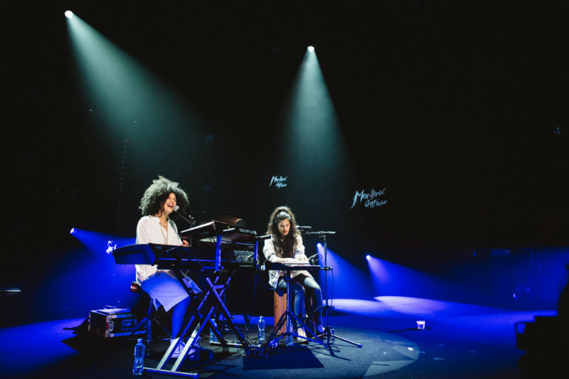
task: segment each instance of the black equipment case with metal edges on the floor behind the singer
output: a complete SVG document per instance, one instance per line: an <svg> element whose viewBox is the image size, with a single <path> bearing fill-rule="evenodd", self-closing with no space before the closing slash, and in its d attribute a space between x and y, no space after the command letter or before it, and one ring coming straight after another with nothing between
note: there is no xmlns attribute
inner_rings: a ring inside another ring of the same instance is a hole
<svg viewBox="0 0 569 379"><path fill-rule="evenodd" d="M129 336L137 328L137 315L130 309L96 309L89 312L90 331L105 338ZM144 334L139 330L134 334Z"/></svg>

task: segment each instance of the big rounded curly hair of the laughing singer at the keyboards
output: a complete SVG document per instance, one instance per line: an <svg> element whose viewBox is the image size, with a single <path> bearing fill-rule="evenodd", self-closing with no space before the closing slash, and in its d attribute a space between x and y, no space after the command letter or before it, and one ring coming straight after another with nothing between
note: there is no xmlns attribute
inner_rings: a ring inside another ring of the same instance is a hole
<svg viewBox="0 0 569 379"><path fill-rule="evenodd" d="M144 191L142 199L140 199L139 209L142 215L156 215L164 210L162 206L164 201L170 196L170 193L176 195L176 203L181 209L186 210L190 202L187 193L178 186L178 183L169 181L164 176L158 176L152 181L152 184Z"/></svg>

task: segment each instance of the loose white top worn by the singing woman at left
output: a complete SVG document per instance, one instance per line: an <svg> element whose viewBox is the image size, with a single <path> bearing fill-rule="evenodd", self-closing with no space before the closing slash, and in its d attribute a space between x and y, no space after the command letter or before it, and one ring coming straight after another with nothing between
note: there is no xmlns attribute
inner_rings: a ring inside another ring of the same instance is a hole
<svg viewBox="0 0 569 379"><path fill-rule="evenodd" d="M182 240L178 235L178 228L173 220L168 220L168 231L160 225L160 219L156 216L144 216L137 225L137 244L139 243L159 243L163 245L182 245ZM137 282L141 284L144 280L156 274L158 267L154 265L135 265L137 267Z"/></svg>

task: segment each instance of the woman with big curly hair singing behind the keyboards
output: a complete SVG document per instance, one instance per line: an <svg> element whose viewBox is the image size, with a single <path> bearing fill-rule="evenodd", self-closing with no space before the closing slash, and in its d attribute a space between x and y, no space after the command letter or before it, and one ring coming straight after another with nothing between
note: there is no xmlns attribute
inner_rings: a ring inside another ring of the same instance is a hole
<svg viewBox="0 0 569 379"><path fill-rule="evenodd" d="M163 176L152 181L140 201L139 208L142 210L143 217L137 225L136 243L187 246L188 242L182 242L176 224L169 216L174 212L176 204L179 204L181 208L186 208L188 203L188 196L184 190L179 188L178 183L169 181ZM136 269L137 282L149 294L154 306L158 308L162 305L164 311L174 308L171 335L171 343L174 343L174 339L179 337L186 311L190 305L188 292L169 269L158 269L154 265L136 265ZM186 285L193 292L201 292L201 289L189 278L186 278ZM174 351L172 358L179 357L183 349L184 342L182 341ZM190 351L191 353L193 352Z"/></svg>

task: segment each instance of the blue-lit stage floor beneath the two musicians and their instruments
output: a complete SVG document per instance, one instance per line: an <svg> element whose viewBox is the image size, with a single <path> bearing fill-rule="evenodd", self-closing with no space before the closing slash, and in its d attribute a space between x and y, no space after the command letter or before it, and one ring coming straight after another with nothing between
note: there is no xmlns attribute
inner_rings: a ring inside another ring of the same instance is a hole
<svg viewBox="0 0 569 379"><path fill-rule="evenodd" d="M336 339L329 348L317 343L281 345L270 356L257 358L246 356L243 349L224 353L210 347L203 336L201 346L211 348L213 360L186 361L182 370L201 378L524 378L518 365L524 351L516 348L514 324L556 313L410 297L336 299L334 309L330 324L336 336L363 347ZM417 320L426 321L425 330L416 329ZM106 341L69 330L82 321L0 329L1 376L132 378L134 342ZM267 321L272 325L272 318ZM256 339L255 333L250 332L251 339ZM152 344L146 366L156 365L166 344Z"/></svg>

